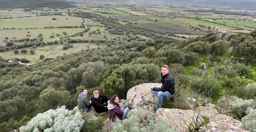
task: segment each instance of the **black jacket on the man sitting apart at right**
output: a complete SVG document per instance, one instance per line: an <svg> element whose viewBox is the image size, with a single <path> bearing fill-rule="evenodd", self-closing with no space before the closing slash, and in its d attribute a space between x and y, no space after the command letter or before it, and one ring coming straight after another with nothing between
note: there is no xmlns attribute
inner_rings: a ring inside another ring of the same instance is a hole
<svg viewBox="0 0 256 132"><path fill-rule="evenodd" d="M161 73L161 77L162 87L153 87L153 90L162 92L168 91L171 95L173 95L175 92L175 81L172 74L168 72L167 74L163 75Z"/></svg>

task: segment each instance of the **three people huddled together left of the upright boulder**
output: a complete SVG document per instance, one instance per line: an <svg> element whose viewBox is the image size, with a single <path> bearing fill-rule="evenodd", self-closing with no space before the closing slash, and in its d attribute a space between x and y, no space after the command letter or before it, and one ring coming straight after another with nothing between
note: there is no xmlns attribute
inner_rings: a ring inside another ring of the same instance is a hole
<svg viewBox="0 0 256 132"><path fill-rule="evenodd" d="M120 108L119 97L117 95L113 95L111 99L109 99L107 95L93 91L93 96L91 97L91 101L89 101L86 89L82 89L78 96L77 103L78 108L82 109L82 111L88 112L92 106L97 113L108 111L109 119L112 121L116 121L116 118L124 120L130 110L129 107Z"/></svg>

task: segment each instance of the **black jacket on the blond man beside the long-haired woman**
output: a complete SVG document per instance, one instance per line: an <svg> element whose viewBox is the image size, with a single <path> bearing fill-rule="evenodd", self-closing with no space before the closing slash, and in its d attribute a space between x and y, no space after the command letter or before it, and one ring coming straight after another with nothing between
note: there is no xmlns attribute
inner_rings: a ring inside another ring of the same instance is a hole
<svg viewBox="0 0 256 132"><path fill-rule="evenodd" d="M101 98L102 98L102 100L100 100ZM92 106L94 107L94 110L97 113L107 111L107 109L104 107L106 107L108 103L104 103L104 102L107 102L108 100L109 100L109 98L105 94L99 94L99 97L97 99L94 98L94 96L91 97Z"/></svg>

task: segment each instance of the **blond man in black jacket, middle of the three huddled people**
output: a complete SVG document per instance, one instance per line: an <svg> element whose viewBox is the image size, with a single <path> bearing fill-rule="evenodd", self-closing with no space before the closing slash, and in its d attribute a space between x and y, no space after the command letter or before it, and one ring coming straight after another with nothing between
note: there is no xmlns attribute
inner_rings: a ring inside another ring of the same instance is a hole
<svg viewBox="0 0 256 132"><path fill-rule="evenodd" d="M108 111L107 105L110 102L109 98L105 94L99 94L98 91L93 91L91 97L92 105L97 113Z"/></svg>

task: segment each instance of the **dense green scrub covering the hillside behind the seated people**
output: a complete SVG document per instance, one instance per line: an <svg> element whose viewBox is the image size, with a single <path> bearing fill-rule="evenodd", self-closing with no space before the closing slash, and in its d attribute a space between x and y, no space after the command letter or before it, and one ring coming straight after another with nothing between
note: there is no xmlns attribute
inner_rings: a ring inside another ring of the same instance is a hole
<svg viewBox="0 0 256 132"><path fill-rule="evenodd" d="M72 109L77 105L77 95L82 87L88 88L89 95L98 89L108 96L117 94L125 99L129 88L143 82L159 82L159 66L162 64L168 64L175 76L177 99L185 97L184 91L179 92L183 87L187 91L194 91L198 97L212 99L213 103L226 95L255 99L256 88L251 83L256 80L256 72L251 65L255 65L256 55L254 50L249 50L255 45L255 34L256 31L234 35L229 41L212 39L216 38L216 34L209 34L190 41L159 42L154 46L145 42L143 48L136 44L115 45L45 58L31 66L1 58L1 131L20 127L37 113L49 109L62 105ZM229 47L230 43L236 44L232 50L234 52L221 48ZM236 52L244 47L247 47L246 55L250 59ZM172 107L179 105L178 102ZM254 107L252 104L248 104L248 107ZM230 114L241 119L246 115L246 108L243 112L236 114L231 111Z"/></svg>

